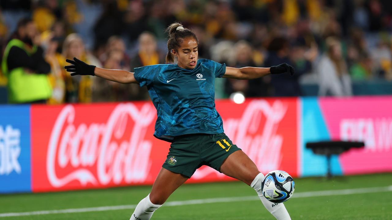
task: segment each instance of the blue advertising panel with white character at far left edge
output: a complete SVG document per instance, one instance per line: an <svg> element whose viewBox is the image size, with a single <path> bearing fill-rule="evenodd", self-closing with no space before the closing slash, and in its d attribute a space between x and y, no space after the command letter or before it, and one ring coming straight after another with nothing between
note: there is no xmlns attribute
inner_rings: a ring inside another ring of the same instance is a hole
<svg viewBox="0 0 392 220"><path fill-rule="evenodd" d="M30 106L0 106L0 193L31 192Z"/></svg>

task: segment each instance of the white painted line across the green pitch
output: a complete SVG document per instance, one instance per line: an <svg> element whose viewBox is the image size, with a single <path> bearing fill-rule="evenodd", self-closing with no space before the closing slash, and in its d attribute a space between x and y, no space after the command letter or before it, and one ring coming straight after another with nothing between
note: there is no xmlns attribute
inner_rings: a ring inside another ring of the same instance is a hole
<svg viewBox="0 0 392 220"><path fill-rule="evenodd" d="M392 186L310 191L310 192L303 192L303 193L294 193L292 198L378 193L378 192L386 192L386 191L392 191ZM218 203L218 202L240 202L240 201L253 201L253 200L259 200L259 198L257 196L247 196L247 197L193 199L193 200L166 202L163 206L186 206L186 205L209 204L209 203ZM0 213L0 218L13 217L13 216L60 214L60 213L83 213L83 212L122 210L122 209L134 209L134 208L136 208L136 205L101 206L101 207L89 207L89 208L80 208L80 209L58 209L58 210L43 210L43 211L31 211L31 212L19 212L19 213Z"/></svg>

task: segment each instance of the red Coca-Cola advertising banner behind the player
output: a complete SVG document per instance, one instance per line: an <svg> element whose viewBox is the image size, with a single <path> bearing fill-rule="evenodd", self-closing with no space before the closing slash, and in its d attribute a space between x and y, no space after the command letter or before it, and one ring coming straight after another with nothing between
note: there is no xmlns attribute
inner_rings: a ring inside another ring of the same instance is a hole
<svg viewBox="0 0 392 220"><path fill-rule="evenodd" d="M298 99L216 102L225 133L259 170L298 175ZM151 102L33 105L33 192L152 184L170 143L156 139ZM203 166L187 182L232 180Z"/></svg>

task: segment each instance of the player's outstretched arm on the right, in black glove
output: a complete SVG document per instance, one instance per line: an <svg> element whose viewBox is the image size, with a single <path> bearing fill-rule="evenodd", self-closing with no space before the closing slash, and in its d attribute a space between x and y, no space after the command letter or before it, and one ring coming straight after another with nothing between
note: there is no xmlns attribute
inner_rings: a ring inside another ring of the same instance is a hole
<svg viewBox="0 0 392 220"><path fill-rule="evenodd" d="M267 76L269 74L282 74L288 73L290 76L293 76L295 70L292 66L287 63L279 64L278 66L272 66L270 68L259 68L259 67L242 67L242 68L233 68L226 67L225 75L223 78L232 78L232 79L256 79L263 76Z"/></svg>

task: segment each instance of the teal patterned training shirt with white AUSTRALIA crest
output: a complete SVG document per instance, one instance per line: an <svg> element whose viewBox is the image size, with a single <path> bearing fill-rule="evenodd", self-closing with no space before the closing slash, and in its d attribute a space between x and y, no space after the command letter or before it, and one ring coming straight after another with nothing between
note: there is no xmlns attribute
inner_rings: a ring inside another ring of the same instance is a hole
<svg viewBox="0 0 392 220"><path fill-rule="evenodd" d="M171 141L175 136L223 132L223 123L215 109L215 78L222 77L226 64L199 59L194 69L176 64L158 64L135 68L140 87L147 86L157 110L154 136Z"/></svg>

